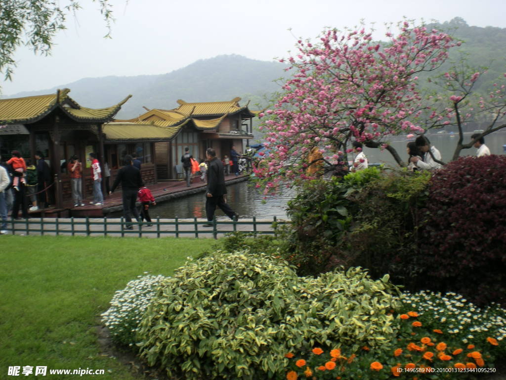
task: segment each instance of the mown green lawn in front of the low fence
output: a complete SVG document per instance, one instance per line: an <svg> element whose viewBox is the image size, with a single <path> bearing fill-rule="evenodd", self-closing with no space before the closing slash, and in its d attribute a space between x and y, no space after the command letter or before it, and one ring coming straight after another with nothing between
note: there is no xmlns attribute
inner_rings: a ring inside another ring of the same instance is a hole
<svg viewBox="0 0 506 380"><path fill-rule="evenodd" d="M47 366L37 378L130 380L130 369L103 356L100 314L114 291L144 272L170 276L213 239L2 236L0 378L9 366ZM105 375L49 375L50 368L105 369ZM34 375L22 376L35 378Z"/></svg>

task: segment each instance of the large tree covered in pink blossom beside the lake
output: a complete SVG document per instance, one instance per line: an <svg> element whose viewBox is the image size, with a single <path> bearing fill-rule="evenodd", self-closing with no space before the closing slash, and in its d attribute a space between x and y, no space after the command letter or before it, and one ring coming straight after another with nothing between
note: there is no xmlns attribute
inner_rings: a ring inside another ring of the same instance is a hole
<svg viewBox="0 0 506 380"><path fill-rule="evenodd" d="M261 128L270 152L256 175L266 193L313 178L306 169L314 146L330 167L347 162L352 140L386 148L402 165L387 142L393 135L423 133L417 120L427 104L417 74L438 68L458 43L411 21L398 27L397 36L387 33L386 43L374 42L364 28L325 29L318 42L298 41L299 53L286 59L293 77L273 107L259 115L267 119ZM443 118L432 120L432 127Z"/></svg>

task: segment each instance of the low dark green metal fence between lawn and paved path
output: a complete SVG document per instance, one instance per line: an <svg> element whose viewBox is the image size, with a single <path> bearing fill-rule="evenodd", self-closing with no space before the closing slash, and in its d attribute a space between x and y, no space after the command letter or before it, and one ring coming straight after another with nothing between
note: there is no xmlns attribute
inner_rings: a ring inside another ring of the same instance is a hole
<svg viewBox="0 0 506 380"><path fill-rule="evenodd" d="M124 237L125 235L138 235L138 237L165 237L165 236L192 236L198 238L199 235L213 235L215 239L219 234L227 234L231 232L242 232L256 235L276 235L277 229L280 225L288 223L284 220L277 220L274 216L270 220L251 220L229 221L229 220L216 220L208 222L205 220L193 219L179 219L161 220L160 218L153 219L150 224L146 226L147 222L126 222L123 218L119 220L109 220L103 218L35 218L17 219L11 221L11 233L24 233L26 235L86 235L86 236L118 236ZM211 224L211 227L203 227L204 224ZM232 226L232 229L220 230L220 226ZM248 231L238 230L240 226L251 226ZM174 226L174 227L172 227ZM264 226L264 227L263 227ZM266 229L265 226L268 226ZM130 229L132 228L132 229Z"/></svg>

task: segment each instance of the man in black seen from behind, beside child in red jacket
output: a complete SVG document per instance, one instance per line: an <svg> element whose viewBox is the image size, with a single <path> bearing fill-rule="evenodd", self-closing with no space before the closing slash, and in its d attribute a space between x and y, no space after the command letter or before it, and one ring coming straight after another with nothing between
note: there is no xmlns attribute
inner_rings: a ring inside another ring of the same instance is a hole
<svg viewBox="0 0 506 380"><path fill-rule="evenodd" d="M134 214L137 221L140 221L139 211L135 207L139 187L142 187L141 171L133 165L132 156L126 155L124 158L125 166L119 169L116 179L112 185L109 195L114 192L119 182L121 182L121 191L123 194L123 215L125 217L126 229L133 230L134 226L131 215Z"/></svg>

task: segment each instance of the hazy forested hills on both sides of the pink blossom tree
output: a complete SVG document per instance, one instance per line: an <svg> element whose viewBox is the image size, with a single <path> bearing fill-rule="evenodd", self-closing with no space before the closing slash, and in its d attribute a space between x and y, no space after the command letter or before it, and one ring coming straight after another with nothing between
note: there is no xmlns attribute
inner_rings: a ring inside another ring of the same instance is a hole
<svg viewBox="0 0 506 380"><path fill-rule="evenodd" d="M459 48L450 51L450 60L459 60L461 53L467 53L469 65L489 67L488 73L477 82L475 88L481 95L486 95L497 77L506 72L506 28L469 26L460 17L432 24L430 27L448 31L456 39L463 41ZM280 55L284 53L279 52ZM67 87L71 89L72 98L83 106L93 108L115 104L126 95L132 94L133 97L118 113L118 118L138 116L144 112L142 106L175 108L178 99L193 102L218 101L240 96L243 99L241 104L251 100L250 106L255 108L255 103L267 105L264 96L270 98L273 92L279 90L279 86L273 81L286 76L285 67L279 62L258 61L239 55L221 55L196 61L166 74L85 78L60 84L52 89L11 96L48 94L56 92L57 88ZM442 73L447 69L448 64L445 64L438 72ZM139 68L139 71L141 70L142 67ZM430 75L434 74L436 73Z"/></svg>

